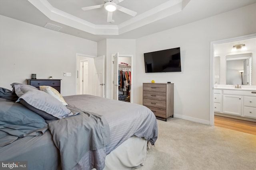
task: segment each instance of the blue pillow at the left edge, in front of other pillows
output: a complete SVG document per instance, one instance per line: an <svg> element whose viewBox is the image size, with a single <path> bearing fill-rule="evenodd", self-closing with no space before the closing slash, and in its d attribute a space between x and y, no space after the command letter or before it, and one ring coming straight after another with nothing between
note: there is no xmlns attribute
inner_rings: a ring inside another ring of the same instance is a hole
<svg viewBox="0 0 256 170"><path fill-rule="evenodd" d="M47 129L44 118L22 104L0 101L0 146L18 137L42 135Z"/></svg>

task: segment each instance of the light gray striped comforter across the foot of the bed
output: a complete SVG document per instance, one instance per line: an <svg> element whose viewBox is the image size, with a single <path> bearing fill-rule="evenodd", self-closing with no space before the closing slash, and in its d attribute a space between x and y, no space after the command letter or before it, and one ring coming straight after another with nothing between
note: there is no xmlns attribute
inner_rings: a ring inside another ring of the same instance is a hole
<svg viewBox="0 0 256 170"><path fill-rule="evenodd" d="M158 126L154 113L145 106L100 98L91 95L65 96L69 106L80 111L102 115L110 128L110 143L96 151L86 152L87 156L73 168L91 170L104 168L105 155L116 149L132 136L144 137L154 145Z"/></svg>

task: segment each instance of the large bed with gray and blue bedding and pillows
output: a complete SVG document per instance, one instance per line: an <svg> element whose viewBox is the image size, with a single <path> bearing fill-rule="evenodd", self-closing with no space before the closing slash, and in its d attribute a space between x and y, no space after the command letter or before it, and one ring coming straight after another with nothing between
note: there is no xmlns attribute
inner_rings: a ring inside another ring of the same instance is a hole
<svg viewBox="0 0 256 170"><path fill-rule="evenodd" d="M28 161L29 170L132 169L157 140L147 107L11 85L0 88L1 161Z"/></svg>

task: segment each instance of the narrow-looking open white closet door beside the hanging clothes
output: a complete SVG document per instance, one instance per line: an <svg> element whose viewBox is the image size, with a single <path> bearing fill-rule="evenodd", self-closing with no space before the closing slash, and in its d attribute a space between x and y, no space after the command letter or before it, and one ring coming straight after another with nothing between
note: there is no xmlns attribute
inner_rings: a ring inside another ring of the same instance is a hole
<svg viewBox="0 0 256 170"><path fill-rule="evenodd" d="M116 55L114 55L114 69L113 69L113 83L114 83L114 96L113 99L114 100L118 100L118 53L116 53Z"/></svg>

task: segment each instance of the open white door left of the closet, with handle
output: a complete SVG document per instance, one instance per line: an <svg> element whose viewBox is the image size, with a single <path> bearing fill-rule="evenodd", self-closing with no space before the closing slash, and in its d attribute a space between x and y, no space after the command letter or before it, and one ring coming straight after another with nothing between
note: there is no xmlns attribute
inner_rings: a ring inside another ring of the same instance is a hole
<svg viewBox="0 0 256 170"><path fill-rule="evenodd" d="M94 58L94 95L104 97L105 56Z"/></svg>

